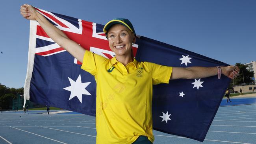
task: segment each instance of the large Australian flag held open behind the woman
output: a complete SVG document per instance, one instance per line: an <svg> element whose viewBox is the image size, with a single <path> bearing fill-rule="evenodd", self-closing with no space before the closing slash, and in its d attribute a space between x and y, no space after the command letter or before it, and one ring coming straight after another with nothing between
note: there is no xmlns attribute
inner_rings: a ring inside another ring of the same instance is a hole
<svg viewBox="0 0 256 144"><path fill-rule="evenodd" d="M115 56L108 46L103 25L38 8L37 11L86 50L109 59ZM227 66L139 35L133 52L138 61L160 65ZM38 22L30 21L28 70L24 86L26 100L95 116L95 78L82 70L81 64L50 39ZM169 84L154 85L153 129L202 142L229 82L226 76L221 76L221 79L212 76L176 79Z"/></svg>

